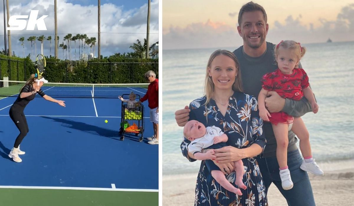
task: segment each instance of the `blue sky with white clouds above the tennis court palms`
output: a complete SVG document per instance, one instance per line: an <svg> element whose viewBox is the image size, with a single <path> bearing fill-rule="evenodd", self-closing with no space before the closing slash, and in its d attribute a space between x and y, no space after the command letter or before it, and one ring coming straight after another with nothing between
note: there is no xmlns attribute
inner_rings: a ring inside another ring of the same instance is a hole
<svg viewBox="0 0 354 206"><path fill-rule="evenodd" d="M31 44L27 41L29 36L52 36L52 55L54 55L54 1L53 0L10 0L10 16L29 15L31 10L39 10L38 18L48 15L44 19L47 31L11 31L12 51L23 56L20 37L25 37L25 55L31 52ZM4 13L0 5L0 49L4 48ZM59 44L68 33L87 34L98 40L97 25L98 7L97 0L57 0L57 25ZM150 10L150 45L159 41L159 2L151 0ZM137 39L143 42L146 38L147 1L118 1L101 0L101 54L109 56L114 53L132 52L130 45ZM64 42L65 43L65 42ZM37 54L40 53L40 42L37 41ZM34 47L34 46L33 46ZM44 41L44 54L49 55L50 42ZM74 44L72 44L74 47ZM78 49L78 42L76 42ZM34 50L33 50L34 53ZM65 53L65 51L64 51ZM34 55L34 54L33 54ZM62 49L59 48L59 58L62 58ZM97 42L95 48L97 56Z"/></svg>

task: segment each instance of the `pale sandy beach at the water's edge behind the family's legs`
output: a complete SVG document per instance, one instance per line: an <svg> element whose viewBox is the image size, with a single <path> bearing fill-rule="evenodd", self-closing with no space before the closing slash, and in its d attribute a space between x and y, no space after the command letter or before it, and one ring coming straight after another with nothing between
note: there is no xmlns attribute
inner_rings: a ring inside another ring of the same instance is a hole
<svg viewBox="0 0 354 206"><path fill-rule="evenodd" d="M352 161L348 163L352 163ZM341 170L332 169L325 171L325 176L309 174L316 205L353 205L354 167ZM196 173L186 175L163 175L162 204L164 206L192 206L194 204L195 181ZM287 205L285 198L274 184L269 188L268 202L271 206Z"/></svg>

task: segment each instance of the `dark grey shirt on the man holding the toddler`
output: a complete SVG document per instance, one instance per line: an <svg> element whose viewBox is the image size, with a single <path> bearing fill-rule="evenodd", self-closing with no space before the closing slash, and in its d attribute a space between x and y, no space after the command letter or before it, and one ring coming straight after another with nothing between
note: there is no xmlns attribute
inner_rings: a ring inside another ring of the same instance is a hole
<svg viewBox="0 0 354 206"><path fill-rule="evenodd" d="M259 57L250 57L247 55L243 46L236 49L233 53L236 55L241 70L242 86L244 93L250 94L258 98L258 94L262 89L261 78L263 75L269 72L273 72L278 68L274 58L274 44L267 42L267 49ZM282 110L291 116L299 117L307 112L311 111L311 105L303 98L301 101L295 101L286 99L285 106ZM276 140L273 133L272 124L265 122L263 125L265 139L267 144L265 145L262 157L275 157L276 156ZM293 151L297 149L295 134L289 131L289 145L287 151Z"/></svg>

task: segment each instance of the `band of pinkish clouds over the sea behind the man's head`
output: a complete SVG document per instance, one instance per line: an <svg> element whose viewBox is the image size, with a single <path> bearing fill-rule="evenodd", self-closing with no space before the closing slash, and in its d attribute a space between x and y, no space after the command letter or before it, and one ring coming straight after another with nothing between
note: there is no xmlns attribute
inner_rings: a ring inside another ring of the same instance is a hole
<svg viewBox="0 0 354 206"><path fill-rule="evenodd" d="M313 24L304 25L302 15L288 16L285 23L275 21L270 24L267 41L295 40L301 43L325 42L329 37L333 41L354 41L354 4L342 8L335 21L319 19L321 25L314 28ZM238 47L242 45L235 26L222 23L194 23L185 28L170 27L163 29L164 49L182 48L220 48Z"/></svg>

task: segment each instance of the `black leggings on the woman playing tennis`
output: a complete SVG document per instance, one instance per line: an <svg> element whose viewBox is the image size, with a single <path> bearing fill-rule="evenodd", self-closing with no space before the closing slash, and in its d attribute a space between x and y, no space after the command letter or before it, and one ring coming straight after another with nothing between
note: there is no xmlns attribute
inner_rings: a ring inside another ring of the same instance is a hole
<svg viewBox="0 0 354 206"><path fill-rule="evenodd" d="M15 123L18 130L20 130L20 134L17 136L17 138L15 140L15 144L13 145L13 147L18 148L18 146L21 144L23 138L27 135L27 133L29 131L27 120L26 120L26 117L24 116L23 112L17 112L17 111L13 111L10 109L9 114L10 114L10 117L11 117L13 123Z"/></svg>

